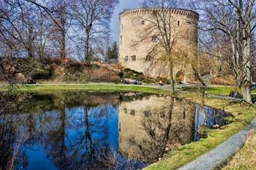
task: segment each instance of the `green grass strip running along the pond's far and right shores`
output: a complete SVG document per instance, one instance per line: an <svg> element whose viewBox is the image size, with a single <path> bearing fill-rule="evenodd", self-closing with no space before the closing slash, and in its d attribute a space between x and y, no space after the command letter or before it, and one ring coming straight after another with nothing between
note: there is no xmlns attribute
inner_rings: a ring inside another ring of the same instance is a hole
<svg viewBox="0 0 256 170"><path fill-rule="evenodd" d="M5 88L6 90L7 88ZM221 91L214 89L215 93L223 94L227 88L220 88ZM3 88L1 88L3 90ZM148 88L138 85L20 85L16 87L20 93L49 93L53 91L137 91L144 93L166 93L166 90L156 88ZM187 98L192 101L200 102L200 97L197 93L176 93L181 98ZM201 139L200 142L192 142L191 144L178 147L173 152L170 152L165 158L157 163L153 163L146 169L176 169L189 161L194 160L198 156L216 147L224 142L233 134L241 131L246 125L256 116L255 107L241 106L240 104L227 101L219 98L206 98L205 104L210 107L225 109L236 115L236 120L230 125L223 126L222 129L211 131L208 138Z"/></svg>

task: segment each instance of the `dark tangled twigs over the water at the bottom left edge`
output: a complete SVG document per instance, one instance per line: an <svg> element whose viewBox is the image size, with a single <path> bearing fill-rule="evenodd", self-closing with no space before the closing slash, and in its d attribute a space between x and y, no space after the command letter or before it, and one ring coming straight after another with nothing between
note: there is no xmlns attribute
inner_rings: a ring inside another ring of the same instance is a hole
<svg viewBox="0 0 256 170"><path fill-rule="evenodd" d="M22 155L18 152L20 144L26 140L19 129L18 123L12 123L18 119L17 115L10 114L20 104L26 103L29 95L15 96L10 93L0 94L0 169L14 169L15 158ZM26 158L23 160L25 164Z"/></svg>

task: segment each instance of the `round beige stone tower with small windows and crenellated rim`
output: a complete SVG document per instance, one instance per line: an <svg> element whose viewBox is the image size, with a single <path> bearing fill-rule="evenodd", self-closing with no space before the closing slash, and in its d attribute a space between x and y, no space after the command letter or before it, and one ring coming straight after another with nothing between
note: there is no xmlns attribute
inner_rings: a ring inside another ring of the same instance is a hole
<svg viewBox="0 0 256 170"><path fill-rule="evenodd" d="M173 37L174 35L177 37L177 41L173 43L175 44L173 51L189 53L189 50L196 49L199 19L197 12L188 9L126 9L119 14L119 63L121 66L143 72L151 77L167 77L169 69L164 66L164 63L158 63L157 66L152 67L152 48L158 41L159 34L154 35L154 31L151 31L151 34L148 34L149 37L143 37L146 31L151 29L154 12L162 12L162 10L169 15L168 20L171 22ZM174 76L183 74L186 77L186 67L186 63L174 63Z"/></svg>

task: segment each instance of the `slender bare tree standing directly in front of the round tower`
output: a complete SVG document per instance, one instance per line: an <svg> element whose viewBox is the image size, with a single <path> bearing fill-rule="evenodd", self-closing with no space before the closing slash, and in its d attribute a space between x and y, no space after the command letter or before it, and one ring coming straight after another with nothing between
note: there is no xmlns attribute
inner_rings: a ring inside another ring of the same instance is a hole
<svg viewBox="0 0 256 170"><path fill-rule="evenodd" d="M170 79L170 90L174 91L174 73L173 68L175 62L181 61L181 41L187 41L184 38L184 28L177 26L179 21L171 13L170 9L178 7L181 1L168 1L159 0L143 1L143 7L153 8L151 13L143 17L143 20L148 22L143 34L140 36L140 41L135 42L136 45L140 45L141 42L153 42L148 55L151 56L151 64L149 69L161 67L165 70L159 70L159 72L167 72ZM141 19L141 18L140 18ZM179 49L179 50L178 50Z"/></svg>

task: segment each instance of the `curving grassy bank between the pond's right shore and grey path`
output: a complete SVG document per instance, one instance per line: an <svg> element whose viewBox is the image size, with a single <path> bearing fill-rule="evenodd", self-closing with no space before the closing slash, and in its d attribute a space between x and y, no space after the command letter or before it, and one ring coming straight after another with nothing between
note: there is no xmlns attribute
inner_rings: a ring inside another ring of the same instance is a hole
<svg viewBox="0 0 256 170"><path fill-rule="evenodd" d="M192 101L200 101L200 97L195 93L179 93L178 96ZM232 113L236 116L234 122L222 126L221 129L211 130L206 139L200 139L199 142L192 142L182 147L178 147L161 161L151 164L146 169L177 169L178 167L195 160L195 158L203 153L214 149L214 147L217 147L218 144L221 144L230 136L233 136L238 133L238 131L241 131L241 129L246 128L256 116L255 107L241 106L238 103L225 99L206 98L205 104Z"/></svg>

